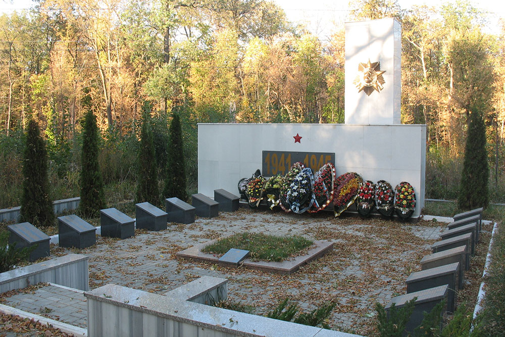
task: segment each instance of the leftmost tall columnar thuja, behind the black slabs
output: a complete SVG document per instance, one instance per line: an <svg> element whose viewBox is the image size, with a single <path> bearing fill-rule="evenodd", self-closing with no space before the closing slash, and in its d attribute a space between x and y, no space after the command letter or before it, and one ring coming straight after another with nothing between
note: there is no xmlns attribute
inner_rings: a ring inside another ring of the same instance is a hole
<svg viewBox="0 0 505 337"><path fill-rule="evenodd" d="M49 199L47 150L34 120L28 122L23 157L21 219L36 226L50 226L55 221L55 213Z"/></svg>

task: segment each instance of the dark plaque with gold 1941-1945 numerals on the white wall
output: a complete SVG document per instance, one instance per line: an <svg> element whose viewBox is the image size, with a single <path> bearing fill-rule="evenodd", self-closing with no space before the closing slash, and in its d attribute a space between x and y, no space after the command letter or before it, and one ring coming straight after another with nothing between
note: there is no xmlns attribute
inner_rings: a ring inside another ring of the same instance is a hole
<svg viewBox="0 0 505 337"><path fill-rule="evenodd" d="M335 153L326 152L263 151L262 157L262 173L266 177L285 175L296 162L303 163L314 172L326 163L335 164Z"/></svg>

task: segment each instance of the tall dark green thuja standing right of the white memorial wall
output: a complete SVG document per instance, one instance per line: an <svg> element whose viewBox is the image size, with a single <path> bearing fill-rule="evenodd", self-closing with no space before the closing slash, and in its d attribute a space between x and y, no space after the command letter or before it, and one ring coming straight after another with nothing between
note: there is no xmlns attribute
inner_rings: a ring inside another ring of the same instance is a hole
<svg viewBox="0 0 505 337"><path fill-rule="evenodd" d="M475 110L470 115L468 126L458 206L463 210L486 207L489 201L488 180L486 127L482 115Z"/></svg>

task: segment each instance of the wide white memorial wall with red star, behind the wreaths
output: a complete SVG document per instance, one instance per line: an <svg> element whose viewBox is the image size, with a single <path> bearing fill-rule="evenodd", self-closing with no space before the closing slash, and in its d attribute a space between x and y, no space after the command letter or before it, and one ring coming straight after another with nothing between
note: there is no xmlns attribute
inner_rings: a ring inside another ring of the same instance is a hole
<svg viewBox="0 0 505 337"><path fill-rule="evenodd" d="M238 181L262 169L263 151L335 153L337 176L357 172L393 187L408 181L416 190L413 217L424 207L425 125L198 124L198 192L238 194Z"/></svg>

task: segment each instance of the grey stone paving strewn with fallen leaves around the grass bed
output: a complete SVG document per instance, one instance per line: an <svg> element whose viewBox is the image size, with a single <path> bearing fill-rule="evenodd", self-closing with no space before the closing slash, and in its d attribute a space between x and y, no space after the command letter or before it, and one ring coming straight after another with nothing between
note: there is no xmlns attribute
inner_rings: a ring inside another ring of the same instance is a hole
<svg viewBox="0 0 505 337"><path fill-rule="evenodd" d="M227 278L228 299L252 305L257 314L271 310L285 297L301 310L325 301L338 305L329 324L342 331L371 332L374 304L387 304L405 293L405 279L420 270L419 261L430 253L443 223L417 224L334 218L317 215L240 209L217 218L199 218L190 225L170 224L160 232L137 231L124 240L97 237L97 245L73 250L52 247L52 257L69 253L89 256L90 288L115 283L164 294L197 277ZM225 268L175 259L175 253L225 234L254 231L275 235L300 234L334 242L334 250L292 275ZM32 313L86 327L86 303L81 293L48 285L10 294L3 303Z"/></svg>

